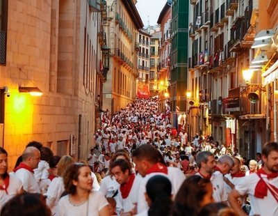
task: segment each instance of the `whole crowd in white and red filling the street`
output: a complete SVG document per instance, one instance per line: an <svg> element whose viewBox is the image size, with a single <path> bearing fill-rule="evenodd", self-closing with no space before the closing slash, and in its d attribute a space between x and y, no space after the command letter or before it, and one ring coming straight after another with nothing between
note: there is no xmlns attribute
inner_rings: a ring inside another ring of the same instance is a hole
<svg viewBox="0 0 278 216"><path fill-rule="evenodd" d="M157 98L101 119L87 160L32 141L8 173L0 148L1 215L278 215L277 143L247 161L172 127Z"/></svg>

